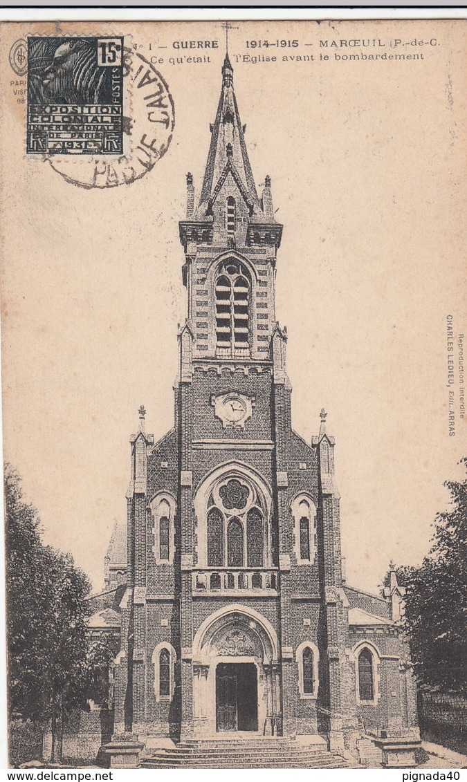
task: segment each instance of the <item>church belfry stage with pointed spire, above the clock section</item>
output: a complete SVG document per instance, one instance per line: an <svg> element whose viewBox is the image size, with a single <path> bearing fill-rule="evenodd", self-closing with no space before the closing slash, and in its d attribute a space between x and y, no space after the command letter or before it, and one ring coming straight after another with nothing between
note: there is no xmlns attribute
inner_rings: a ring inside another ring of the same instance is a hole
<svg viewBox="0 0 467 782"><path fill-rule="evenodd" d="M195 360L270 358L282 225L274 219L268 176L258 197L245 131L226 55L203 185L196 204L192 174L187 174L186 219L180 223Z"/></svg>

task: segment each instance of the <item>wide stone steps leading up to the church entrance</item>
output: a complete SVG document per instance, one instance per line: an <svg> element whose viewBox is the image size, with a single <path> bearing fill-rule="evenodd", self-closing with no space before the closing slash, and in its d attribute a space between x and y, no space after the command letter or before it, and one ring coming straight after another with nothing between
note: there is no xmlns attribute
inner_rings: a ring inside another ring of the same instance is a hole
<svg viewBox="0 0 467 782"><path fill-rule="evenodd" d="M173 748L148 750L144 769L342 769L340 755L328 752L325 741L301 744L290 738L206 739L183 741Z"/></svg>

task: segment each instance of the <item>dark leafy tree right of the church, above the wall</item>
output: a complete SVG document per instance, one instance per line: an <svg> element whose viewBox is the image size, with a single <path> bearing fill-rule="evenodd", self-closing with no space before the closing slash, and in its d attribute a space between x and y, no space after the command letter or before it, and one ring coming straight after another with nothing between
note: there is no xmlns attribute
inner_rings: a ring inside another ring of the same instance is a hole
<svg viewBox="0 0 467 782"><path fill-rule="evenodd" d="M451 504L436 514L429 556L396 573L407 590L404 623L419 682L467 694L467 478L445 486Z"/></svg>

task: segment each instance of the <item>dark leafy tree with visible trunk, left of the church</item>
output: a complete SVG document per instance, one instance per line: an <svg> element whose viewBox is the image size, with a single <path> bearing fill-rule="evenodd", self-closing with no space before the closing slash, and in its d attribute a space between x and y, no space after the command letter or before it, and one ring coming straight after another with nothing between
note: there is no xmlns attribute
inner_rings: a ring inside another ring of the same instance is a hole
<svg viewBox="0 0 467 782"><path fill-rule="evenodd" d="M10 465L5 522L9 714L51 719L52 756L59 761L64 713L81 705L88 689L90 584L70 554L43 545L38 511Z"/></svg>

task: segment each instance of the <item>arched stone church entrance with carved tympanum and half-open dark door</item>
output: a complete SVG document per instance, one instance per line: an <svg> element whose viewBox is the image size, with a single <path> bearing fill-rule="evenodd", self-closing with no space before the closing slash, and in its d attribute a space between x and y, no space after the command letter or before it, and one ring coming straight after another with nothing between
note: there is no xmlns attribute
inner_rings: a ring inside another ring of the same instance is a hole
<svg viewBox="0 0 467 782"><path fill-rule="evenodd" d="M281 732L277 637L245 605L210 615L193 643L193 706L199 736Z"/></svg>

